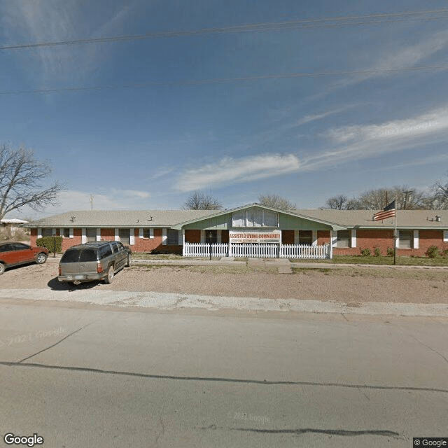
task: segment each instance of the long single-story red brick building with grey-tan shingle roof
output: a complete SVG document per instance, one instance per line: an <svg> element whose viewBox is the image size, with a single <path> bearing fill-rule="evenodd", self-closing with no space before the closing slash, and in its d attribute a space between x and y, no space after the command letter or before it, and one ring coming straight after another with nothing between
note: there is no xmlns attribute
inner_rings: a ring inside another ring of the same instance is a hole
<svg viewBox="0 0 448 448"><path fill-rule="evenodd" d="M271 256L282 256L282 247L293 250L299 245L325 246L326 256L359 255L360 249L373 251L375 247L386 255L387 249L393 248L395 218L374 221L374 212L281 211L260 204L220 211L70 211L27 223L27 228L31 229L31 244L36 244L39 237L62 236L63 251L75 244L109 239L122 241L134 252L183 255L191 255L191 249L201 244L220 245L219 253L230 256L244 255L244 251L262 244L279 246L280 251ZM429 246L448 249L447 210L398 210L396 215L398 255L421 256Z"/></svg>

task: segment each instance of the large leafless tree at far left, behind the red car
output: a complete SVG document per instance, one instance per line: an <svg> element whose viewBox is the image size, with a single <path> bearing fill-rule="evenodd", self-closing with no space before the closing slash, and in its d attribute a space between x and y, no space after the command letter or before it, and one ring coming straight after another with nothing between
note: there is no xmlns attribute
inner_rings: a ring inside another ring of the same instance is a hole
<svg viewBox="0 0 448 448"><path fill-rule="evenodd" d="M41 185L50 173L50 163L36 160L33 151L0 146L0 219L24 205L41 210L56 204L62 186L57 182L48 188Z"/></svg>

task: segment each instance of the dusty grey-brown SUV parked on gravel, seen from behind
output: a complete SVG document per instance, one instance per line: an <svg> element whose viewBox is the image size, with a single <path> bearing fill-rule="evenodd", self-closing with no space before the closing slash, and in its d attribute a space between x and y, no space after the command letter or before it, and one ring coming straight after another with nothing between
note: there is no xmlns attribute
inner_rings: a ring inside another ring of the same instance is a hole
<svg viewBox="0 0 448 448"><path fill-rule="evenodd" d="M92 241L68 248L59 262L59 281L104 280L112 283L116 272L130 266L132 252L120 241Z"/></svg>

